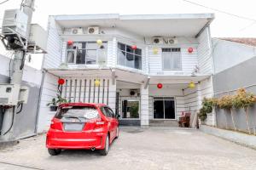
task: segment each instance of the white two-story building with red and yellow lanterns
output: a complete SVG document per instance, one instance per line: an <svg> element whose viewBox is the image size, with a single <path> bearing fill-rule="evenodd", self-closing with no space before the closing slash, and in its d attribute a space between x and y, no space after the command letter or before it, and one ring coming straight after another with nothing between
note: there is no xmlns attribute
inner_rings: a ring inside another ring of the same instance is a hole
<svg viewBox="0 0 256 170"><path fill-rule="evenodd" d="M38 132L63 98L105 103L120 124L177 124L212 96L213 14L81 14L49 16ZM195 86L195 87L194 87Z"/></svg>

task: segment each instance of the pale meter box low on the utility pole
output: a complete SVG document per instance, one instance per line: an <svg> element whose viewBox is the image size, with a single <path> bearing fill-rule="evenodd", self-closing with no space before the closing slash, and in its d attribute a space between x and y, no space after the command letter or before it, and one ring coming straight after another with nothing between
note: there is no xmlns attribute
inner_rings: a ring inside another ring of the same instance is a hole
<svg viewBox="0 0 256 170"><path fill-rule="evenodd" d="M20 85L0 84L0 105L18 105Z"/></svg>

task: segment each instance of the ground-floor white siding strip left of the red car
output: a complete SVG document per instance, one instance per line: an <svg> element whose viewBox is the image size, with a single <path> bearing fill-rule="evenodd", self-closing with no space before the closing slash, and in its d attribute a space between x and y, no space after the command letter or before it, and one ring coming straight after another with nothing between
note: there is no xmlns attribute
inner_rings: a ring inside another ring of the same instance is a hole
<svg viewBox="0 0 256 170"><path fill-rule="evenodd" d="M49 128L50 120L55 115L55 111L49 111L46 106L51 99L56 97L58 77L46 73L42 88L41 103L38 111L38 133L43 133Z"/></svg>

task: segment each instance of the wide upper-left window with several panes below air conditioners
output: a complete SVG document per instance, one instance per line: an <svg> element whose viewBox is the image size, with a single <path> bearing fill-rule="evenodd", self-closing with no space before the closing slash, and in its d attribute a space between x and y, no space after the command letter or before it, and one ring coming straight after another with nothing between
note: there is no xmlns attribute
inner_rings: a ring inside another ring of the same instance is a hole
<svg viewBox="0 0 256 170"><path fill-rule="evenodd" d="M67 63L78 65L104 65L107 62L107 42L74 42L67 46Z"/></svg>

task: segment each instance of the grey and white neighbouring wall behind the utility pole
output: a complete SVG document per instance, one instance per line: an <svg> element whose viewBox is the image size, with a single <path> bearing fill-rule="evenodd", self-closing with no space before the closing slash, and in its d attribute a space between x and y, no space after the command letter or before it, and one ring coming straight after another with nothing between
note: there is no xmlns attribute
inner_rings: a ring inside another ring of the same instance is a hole
<svg viewBox="0 0 256 170"><path fill-rule="evenodd" d="M9 83L9 67L11 66L11 62L11 56L7 57L0 54L0 83ZM16 116L15 137L18 139L26 138L37 133L36 125L41 80L42 71L25 65L21 85L29 88L29 96L27 104L23 105L21 112ZM0 130L2 128L3 116L4 112L0 108ZM11 127L12 125L10 124L9 126Z"/></svg>

